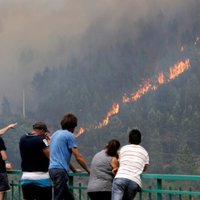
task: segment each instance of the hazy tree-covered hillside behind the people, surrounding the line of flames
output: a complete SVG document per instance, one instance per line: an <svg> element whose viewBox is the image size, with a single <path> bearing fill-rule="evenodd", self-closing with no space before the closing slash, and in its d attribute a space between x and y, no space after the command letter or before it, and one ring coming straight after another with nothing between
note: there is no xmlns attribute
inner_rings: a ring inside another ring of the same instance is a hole
<svg viewBox="0 0 200 200"><path fill-rule="evenodd" d="M178 61L189 59L190 68L176 79L137 101L120 103L119 113L107 126L85 131L77 142L90 163L110 139L125 145L129 131L138 128L150 156L149 173L200 173L199 10L193 7L184 18L177 14L171 19L160 11L152 21L141 19L137 26L139 33L134 39L126 35L94 49L84 44L87 51L82 59L74 56L66 65L47 66L37 72L31 82L35 103L26 108L26 118L13 111L6 96L3 98L0 126L18 123L3 136L15 169L20 169L19 138L31 131L35 121L46 122L53 132L60 128L62 116L72 112L78 117L76 131L94 127L124 94L136 92L145 80L168 73ZM94 46L93 27L89 33Z"/></svg>

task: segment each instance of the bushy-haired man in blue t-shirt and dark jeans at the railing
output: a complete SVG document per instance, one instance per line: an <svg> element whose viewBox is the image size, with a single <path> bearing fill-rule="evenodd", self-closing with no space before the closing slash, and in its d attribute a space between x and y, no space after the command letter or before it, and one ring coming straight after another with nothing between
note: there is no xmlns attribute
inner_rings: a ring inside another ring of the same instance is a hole
<svg viewBox="0 0 200 200"><path fill-rule="evenodd" d="M51 137L49 174L54 184L54 200L74 200L74 196L67 186L70 169L73 172L79 172L70 163L72 155L83 169L90 172L84 157L77 148L73 135L76 126L76 116L71 113L66 114L61 120L62 130L57 130Z"/></svg>

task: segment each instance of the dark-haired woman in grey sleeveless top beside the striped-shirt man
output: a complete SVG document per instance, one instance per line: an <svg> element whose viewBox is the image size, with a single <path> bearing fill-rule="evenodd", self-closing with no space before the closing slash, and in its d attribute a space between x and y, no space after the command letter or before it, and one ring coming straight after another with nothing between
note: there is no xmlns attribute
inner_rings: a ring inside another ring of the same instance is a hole
<svg viewBox="0 0 200 200"><path fill-rule="evenodd" d="M112 182L118 166L120 142L110 140L92 159L87 192L91 200L111 200Z"/></svg>

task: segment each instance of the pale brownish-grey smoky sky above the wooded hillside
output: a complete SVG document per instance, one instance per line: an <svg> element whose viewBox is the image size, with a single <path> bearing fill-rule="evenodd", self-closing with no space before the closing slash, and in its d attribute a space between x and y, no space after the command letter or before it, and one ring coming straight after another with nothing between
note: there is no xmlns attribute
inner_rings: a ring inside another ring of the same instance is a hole
<svg viewBox="0 0 200 200"><path fill-rule="evenodd" d="M129 37L139 20L183 15L196 0L0 1L1 96L20 98L37 71L82 59L87 51ZM186 23L190 23L189 21ZM95 66L94 66L95 67ZM20 101L20 100L18 100Z"/></svg>

